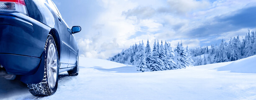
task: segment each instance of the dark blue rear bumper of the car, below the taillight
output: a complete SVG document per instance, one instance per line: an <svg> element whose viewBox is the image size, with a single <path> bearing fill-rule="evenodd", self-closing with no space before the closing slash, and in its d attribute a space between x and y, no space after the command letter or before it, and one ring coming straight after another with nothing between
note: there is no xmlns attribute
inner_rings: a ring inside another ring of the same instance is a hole
<svg viewBox="0 0 256 100"><path fill-rule="evenodd" d="M0 65L15 75L33 75L51 28L19 13L0 13Z"/></svg>

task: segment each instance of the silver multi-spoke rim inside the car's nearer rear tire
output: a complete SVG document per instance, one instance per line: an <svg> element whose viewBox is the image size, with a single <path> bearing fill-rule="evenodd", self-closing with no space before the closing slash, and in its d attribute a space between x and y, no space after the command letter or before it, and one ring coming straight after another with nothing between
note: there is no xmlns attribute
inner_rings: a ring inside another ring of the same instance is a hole
<svg viewBox="0 0 256 100"><path fill-rule="evenodd" d="M51 44L48 48L46 63L47 63L48 83L51 88L54 88L56 85L57 72L58 72L57 71L58 70L57 54L56 54L56 49L54 44Z"/></svg>

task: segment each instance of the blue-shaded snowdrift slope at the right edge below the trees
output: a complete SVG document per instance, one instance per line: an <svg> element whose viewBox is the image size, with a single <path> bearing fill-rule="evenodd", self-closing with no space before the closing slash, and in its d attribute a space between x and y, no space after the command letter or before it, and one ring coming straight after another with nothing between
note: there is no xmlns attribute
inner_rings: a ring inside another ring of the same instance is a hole
<svg viewBox="0 0 256 100"><path fill-rule="evenodd" d="M216 69L218 71L256 73L256 55L241 60L236 60L229 65L218 67Z"/></svg>

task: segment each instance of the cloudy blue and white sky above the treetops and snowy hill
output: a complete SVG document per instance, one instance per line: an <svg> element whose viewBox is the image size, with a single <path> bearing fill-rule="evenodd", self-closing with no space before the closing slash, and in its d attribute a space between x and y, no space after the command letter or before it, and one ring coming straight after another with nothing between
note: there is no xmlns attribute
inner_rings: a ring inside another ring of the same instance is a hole
<svg viewBox="0 0 256 100"><path fill-rule="evenodd" d="M108 58L141 40L219 44L256 28L256 0L53 0L81 56Z"/></svg>

